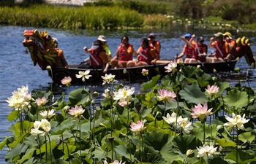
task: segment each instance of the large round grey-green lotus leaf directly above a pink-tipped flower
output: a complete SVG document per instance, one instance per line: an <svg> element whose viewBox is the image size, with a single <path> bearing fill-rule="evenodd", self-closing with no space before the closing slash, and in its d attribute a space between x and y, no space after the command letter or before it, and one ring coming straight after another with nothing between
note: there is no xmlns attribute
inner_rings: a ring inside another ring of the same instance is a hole
<svg viewBox="0 0 256 164"><path fill-rule="evenodd" d="M205 104L208 101L206 95L200 90L199 85L196 83L186 85L178 94L181 95L181 98L186 100L187 103Z"/></svg>

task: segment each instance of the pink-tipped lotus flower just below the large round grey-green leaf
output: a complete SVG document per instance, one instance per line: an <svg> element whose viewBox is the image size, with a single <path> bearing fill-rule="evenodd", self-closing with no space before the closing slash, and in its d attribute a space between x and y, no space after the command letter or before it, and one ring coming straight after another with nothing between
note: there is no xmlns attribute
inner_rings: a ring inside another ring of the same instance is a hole
<svg viewBox="0 0 256 164"><path fill-rule="evenodd" d="M201 104L195 105L195 108L192 108L193 113L191 113L192 118L199 118L200 121L204 120L208 115L213 114L211 109L208 109L207 103L202 106Z"/></svg>

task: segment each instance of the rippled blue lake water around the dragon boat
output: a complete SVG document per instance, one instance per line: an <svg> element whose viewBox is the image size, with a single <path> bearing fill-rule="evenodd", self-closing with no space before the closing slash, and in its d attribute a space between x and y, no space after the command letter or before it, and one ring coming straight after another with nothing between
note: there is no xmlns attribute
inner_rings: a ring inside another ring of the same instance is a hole
<svg viewBox="0 0 256 164"><path fill-rule="evenodd" d="M157 39L161 42L161 58L162 59L173 59L174 56L181 52L179 50L179 44L181 42L181 36L186 33L192 33L196 36L203 36L205 43L208 44L209 39L214 36L218 31L225 32L225 30L216 29L205 29L205 28L192 28L190 26L173 26L172 28L164 29L150 29L150 30L81 30L81 31L70 31L70 30L59 30L53 28L31 28L31 27L20 27L20 26L0 26L0 141L4 136L10 135L8 128L13 122L7 121L7 115L10 114L12 109L8 108L6 102L7 98L12 96L12 92L17 90L22 85L29 85L29 92L31 90L50 90L50 77L48 77L47 71L42 71L39 66L33 66L30 55L24 52L22 41L23 31L26 29L37 29L38 31L47 30L48 34L52 37L57 37L59 40L59 48L64 50L64 55L67 62L72 64L78 64L80 61L88 58L89 56L83 51L83 47L91 46L91 42L97 39L97 36L104 35L110 46L112 53L116 52L116 48L121 42L121 37L126 35L129 36L129 42L132 43L135 49L140 46L140 39L147 37L148 34L154 32ZM256 32L253 31L230 31L234 38L246 36L249 38L251 43L252 52L256 54ZM182 44L183 47L184 44ZM208 50L210 52L211 49ZM251 76L249 77L250 87L256 87L255 82L255 70L248 69L248 66L244 60L238 61L237 65L244 71L248 71ZM237 79L228 78L225 79L232 84L236 84ZM244 85L248 85L244 82ZM72 85L71 90L75 90L79 85ZM104 87L89 86L91 91L97 91L99 93L104 92ZM136 90L139 90L140 83L132 84ZM67 87L53 84L53 93L56 97L61 93L69 93ZM66 96L67 98L67 96ZM5 149L5 148L4 148ZM0 151L0 163L5 163L4 154L5 150Z"/></svg>

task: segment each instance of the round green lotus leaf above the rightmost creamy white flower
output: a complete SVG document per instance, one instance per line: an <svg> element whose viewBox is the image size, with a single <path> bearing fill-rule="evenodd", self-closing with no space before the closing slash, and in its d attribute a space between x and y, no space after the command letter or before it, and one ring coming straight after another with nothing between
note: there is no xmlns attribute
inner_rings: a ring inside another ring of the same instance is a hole
<svg viewBox="0 0 256 164"><path fill-rule="evenodd" d="M234 106L236 109L244 107L248 104L248 94L240 90L230 90L224 98L228 106Z"/></svg>

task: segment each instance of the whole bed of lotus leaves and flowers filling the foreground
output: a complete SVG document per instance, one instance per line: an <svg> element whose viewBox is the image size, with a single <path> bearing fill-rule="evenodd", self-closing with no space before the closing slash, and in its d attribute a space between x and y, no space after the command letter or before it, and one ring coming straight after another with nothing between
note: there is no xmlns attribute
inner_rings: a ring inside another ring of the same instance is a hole
<svg viewBox="0 0 256 164"><path fill-rule="evenodd" d="M7 101L12 109L7 120L14 122L9 129L12 135L0 143L0 149L7 149L5 160L25 164L255 162L252 88L219 82L200 68L179 67L178 71L169 66L171 71L162 79L157 75L144 82L139 93L114 84L114 76L106 75L102 78L111 88L106 86L99 104L93 98L100 95L86 87L70 92L68 101L62 94L53 103L51 92L32 90L28 98L29 87L18 88ZM21 99L15 106L18 95ZM46 101L39 103L42 99Z"/></svg>

